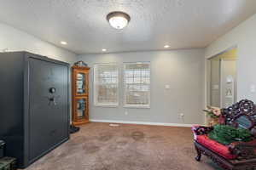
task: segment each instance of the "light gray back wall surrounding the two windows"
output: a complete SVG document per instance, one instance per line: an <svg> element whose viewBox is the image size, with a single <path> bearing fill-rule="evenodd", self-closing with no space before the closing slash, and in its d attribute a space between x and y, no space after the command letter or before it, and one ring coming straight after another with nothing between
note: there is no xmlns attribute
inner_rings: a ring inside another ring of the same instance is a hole
<svg viewBox="0 0 256 170"><path fill-rule="evenodd" d="M90 94L93 94L93 65L117 62L119 64L119 106L96 107L90 95L90 119L123 122L203 123L204 103L204 49L154 51L119 54L80 55L91 67ZM123 62L151 62L150 109L123 107ZM170 85L166 89L165 85ZM128 115L125 115L125 111ZM183 119L179 116L184 114Z"/></svg>

